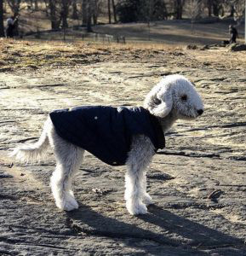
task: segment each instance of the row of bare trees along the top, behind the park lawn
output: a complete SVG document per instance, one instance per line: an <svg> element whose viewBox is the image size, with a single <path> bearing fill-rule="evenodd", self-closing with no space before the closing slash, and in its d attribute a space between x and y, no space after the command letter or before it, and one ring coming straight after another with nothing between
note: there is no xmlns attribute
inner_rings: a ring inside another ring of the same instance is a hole
<svg viewBox="0 0 246 256"><path fill-rule="evenodd" d="M117 22L149 22L151 20L203 19L244 15L244 0L0 0L0 36L4 19L9 15L43 13L50 29ZM24 21L23 21L24 22Z"/></svg>

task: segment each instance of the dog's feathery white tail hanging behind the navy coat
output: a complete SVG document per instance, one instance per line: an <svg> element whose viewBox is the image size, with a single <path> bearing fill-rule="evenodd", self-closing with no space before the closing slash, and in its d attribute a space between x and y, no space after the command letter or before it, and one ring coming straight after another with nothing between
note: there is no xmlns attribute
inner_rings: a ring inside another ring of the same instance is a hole
<svg viewBox="0 0 246 256"><path fill-rule="evenodd" d="M43 155L47 152L47 148L49 147L49 138L46 129L48 123L49 119L45 122L42 134L37 143L25 144L14 148L14 151L10 154L10 156L15 156L17 160L26 163L42 160Z"/></svg>

